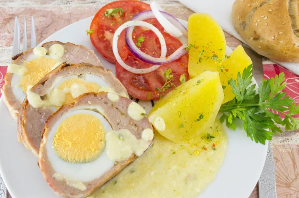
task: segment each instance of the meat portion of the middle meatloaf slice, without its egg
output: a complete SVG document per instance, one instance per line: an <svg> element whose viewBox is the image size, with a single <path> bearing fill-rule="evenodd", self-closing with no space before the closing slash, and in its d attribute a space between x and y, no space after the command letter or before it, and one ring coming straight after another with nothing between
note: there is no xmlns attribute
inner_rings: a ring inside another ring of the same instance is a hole
<svg viewBox="0 0 299 198"><path fill-rule="evenodd" d="M31 92L38 94L40 97L46 96L51 92L55 83L64 77L82 76L84 74L93 74L106 81L109 86L120 96L129 97L126 88L112 74L111 71L105 70L100 66L93 66L88 63L66 64L62 63L56 69L44 76L36 85L31 88ZM84 80L84 79L82 79ZM24 99L17 120L17 137L25 147L38 157L39 146L41 141L41 131L44 128L45 121L53 113L53 107L34 108L28 102L27 97Z"/></svg>

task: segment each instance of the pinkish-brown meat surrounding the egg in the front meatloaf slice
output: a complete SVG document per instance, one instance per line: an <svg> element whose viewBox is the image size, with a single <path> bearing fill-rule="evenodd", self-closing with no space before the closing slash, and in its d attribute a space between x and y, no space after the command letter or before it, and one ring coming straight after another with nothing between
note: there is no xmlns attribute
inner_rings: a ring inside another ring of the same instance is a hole
<svg viewBox="0 0 299 198"><path fill-rule="evenodd" d="M151 136L151 138L149 139L144 138L143 132L145 130L151 130L152 133L152 125L150 124L147 117L144 117L139 121L131 118L130 114L128 113L128 106L131 105L132 102L133 101L131 99L127 99L124 97L119 97L118 101L113 102L108 99L107 93L104 92L100 92L98 94L88 93L76 98L73 104L65 104L48 118L43 130L38 164L44 176L44 179L57 195L68 198L84 198L96 191L111 178L116 176L122 169L124 169L128 164L136 159L137 156L135 154L132 154L129 158L123 161L115 162L114 166L109 171L102 174L100 177L96 177L88 182L82 182L81 185L84 185L86 188L85 190L79 190L77 188L71 187L72 185L68 185L67 181L57 180L54 177L54 174L57 173L57 170L54 170L53 168L55 160L53 161L53 163L49 160L51 157L49 157L49 151L47 151L47 148L52 149L52 147L46 147L46 144L52 142L48 140L48 137L50 135L53 135L51 133L56 132L54 130L51 130L54 125L56 125L59 120L65 119L63 116L66 115L66 113L71 114L72 112L81 109L101 109L101 112L98 113L102 114L106 118L113 130L128 129L131 134L133 134L138 140L145 140L145 142L147 143L147 147L143 150L144 152L150 146L153 136ZM105 163L103 162L103 164ZM80 171L82 169L84 169L83 166L80 168ZM60 174L63 175L63 173L61 172ZM77 172L75 171L72 174L74 176L77 174Z"/></svg>

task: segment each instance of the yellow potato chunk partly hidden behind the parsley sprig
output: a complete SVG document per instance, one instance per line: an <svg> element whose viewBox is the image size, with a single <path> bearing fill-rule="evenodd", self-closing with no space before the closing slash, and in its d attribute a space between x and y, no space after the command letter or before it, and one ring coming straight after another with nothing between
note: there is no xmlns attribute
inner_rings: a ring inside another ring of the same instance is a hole
<svg viewBox="0 0 299 198"><path fill-rule="evenodd" d="M243 47L239 45L225 61L223 61L221 67L218 67L221 84L223 86L224 100L222 103L226 103L235 98L232 93L232 88L228 85L230 79L236 80L238 72L242 74L243 70L252 64L250 57L246 54Z"/></svg>

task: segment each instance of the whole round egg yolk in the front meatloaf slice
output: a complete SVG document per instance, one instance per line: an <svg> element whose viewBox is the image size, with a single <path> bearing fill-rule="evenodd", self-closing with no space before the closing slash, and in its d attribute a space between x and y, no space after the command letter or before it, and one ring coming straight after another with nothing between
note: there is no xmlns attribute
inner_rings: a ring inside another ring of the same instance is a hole
<svg viewBox="0 0 299 198"><path fill-rule="evenodd" d="M53 138L56 154L72 163L92 162L104 148L104 126L98 117L88 113L78 113L64 119Z"/></svg>

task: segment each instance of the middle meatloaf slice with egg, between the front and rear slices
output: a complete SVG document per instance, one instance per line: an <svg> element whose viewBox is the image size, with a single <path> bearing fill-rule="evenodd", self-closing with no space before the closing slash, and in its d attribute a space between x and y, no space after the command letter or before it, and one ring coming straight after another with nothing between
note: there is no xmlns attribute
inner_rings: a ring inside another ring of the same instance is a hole
<svg viewBox="0 0 299 198"><path fill-rule="evenodd" d="M62 63L27 91L17 121L19 142L38 156L41 131L47 118L76 97L100 91L129 97L126 88L111 71L88 63Z"/></svg>

